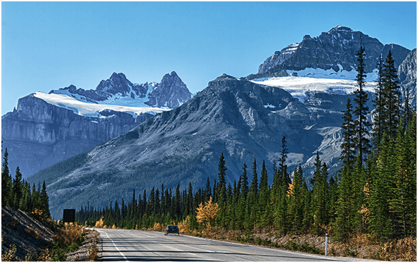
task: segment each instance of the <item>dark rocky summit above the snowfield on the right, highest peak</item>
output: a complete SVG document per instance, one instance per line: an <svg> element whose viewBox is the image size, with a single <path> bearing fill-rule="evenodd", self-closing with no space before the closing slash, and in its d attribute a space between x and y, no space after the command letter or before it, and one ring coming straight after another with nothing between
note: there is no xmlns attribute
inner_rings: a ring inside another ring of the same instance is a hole
<svg viewBox="0 0 418 263"><path fill-rule="evenodd" d="M383 45L367 34L337 26L314 38L309 35L303 36L301 43L293 43L281 51L276 51L259 66L260 76L255 78L265 77L266 73L268 76L275 76L276 72L299 71L306 68L350 72L356 68L356 54L360 43L366 50L364 60L366 72L372 72L377 65L379 55L382 54L385 58L388 50L391 50L397 65L404 61L410 51L395 44Z"/></svg>

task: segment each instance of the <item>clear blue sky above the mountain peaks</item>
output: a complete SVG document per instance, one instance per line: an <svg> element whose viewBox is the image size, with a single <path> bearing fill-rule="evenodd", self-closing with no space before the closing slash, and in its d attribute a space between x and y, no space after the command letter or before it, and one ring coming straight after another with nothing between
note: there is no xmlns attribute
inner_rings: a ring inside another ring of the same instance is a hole
<svg viewBox="0 0 418 263"><path fill-rule="evenodd" d="M417 47L416 2L2 2L1 114L32 92L173 70L191 92L337 25Z"/></svg>

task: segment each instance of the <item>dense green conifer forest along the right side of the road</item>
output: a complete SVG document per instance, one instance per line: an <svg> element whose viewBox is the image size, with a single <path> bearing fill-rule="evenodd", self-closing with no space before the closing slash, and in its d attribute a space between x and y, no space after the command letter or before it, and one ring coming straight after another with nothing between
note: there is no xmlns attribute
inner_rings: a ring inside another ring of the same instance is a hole
<svg viewBox="0 0 418 263"><path fill-rule="evenodd" d="M366 106L365 51L357 52L357 90L353 109L348 99L341 129L341 169L330 176L317 152L315 173L309 182L301 165L288 167L286 138L281 155L268 175L264 161L252 168L243 163L239 180L226 185L228 169L219 158L218 179L195 191L152 188L132 191L132 200L115 200L107 207L89 204L77 211L80 224L126 228L151 228L156 224L183 224L190 231L208 227L255 231L272 227L282 234L312 233L347 240L358 233L379 242L417 235L417 131L416 109L409 92L401 98L397 70L389 52L379 59L374 109ZM372 116L372 123L368 116ZM259 161L259 160L258 160ZM268 184L272 176L272 184ZM204 209L212 216L202 219Z"/></svg>

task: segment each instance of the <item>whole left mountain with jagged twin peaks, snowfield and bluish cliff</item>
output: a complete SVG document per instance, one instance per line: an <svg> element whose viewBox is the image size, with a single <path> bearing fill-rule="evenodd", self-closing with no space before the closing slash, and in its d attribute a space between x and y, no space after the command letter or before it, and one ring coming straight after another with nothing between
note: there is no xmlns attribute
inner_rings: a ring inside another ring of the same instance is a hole
<svg viewBox="0 0 418 263"><path fill-rule="evenodd" d="M96 90L70 85L49 94L36 92L20 98L13 112L1 116L2 147L8 148L10 169L19 166L26 178L190 97L175 72L163 76L161 83L132 84L124 74L113 73ZM150 98L159 104L150 107Z"/></svg>

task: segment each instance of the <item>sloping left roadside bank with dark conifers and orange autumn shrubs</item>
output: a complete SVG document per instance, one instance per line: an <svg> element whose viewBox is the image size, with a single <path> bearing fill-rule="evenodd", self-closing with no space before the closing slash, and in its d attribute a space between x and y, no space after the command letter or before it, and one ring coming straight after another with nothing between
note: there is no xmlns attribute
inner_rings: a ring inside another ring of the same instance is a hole
<svg viewBox="0 0 418 263"><path fill-rule="evenodd" d="M85 227L52 220L48 199L45 181L30 189L19 167L12 178L6 149L1 169L1 261L66 261L81 246L88 251L72 261L97 260L98 236L90 233L92 240L85 244Z"/></svg>

